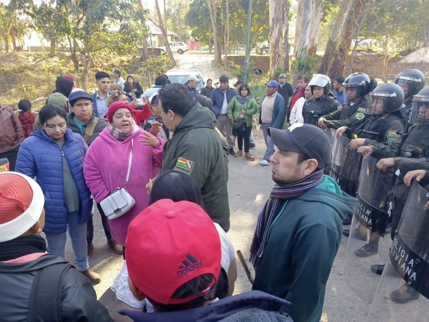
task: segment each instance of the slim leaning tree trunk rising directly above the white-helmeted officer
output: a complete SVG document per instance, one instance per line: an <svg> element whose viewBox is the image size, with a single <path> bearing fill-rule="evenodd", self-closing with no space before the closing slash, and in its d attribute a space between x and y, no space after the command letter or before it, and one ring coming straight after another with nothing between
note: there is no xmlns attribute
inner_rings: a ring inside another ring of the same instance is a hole
<svg viewBox="0 0 429 322"><path fill-rule="evenodd" d="M339 37L341 36L341 31L343 30L344 25L346 24L352 2L353 0L343 0L341 2L340 12L338 12L338 16L335 19L335 27L332 30L332 34L326 44L325 53L319 68L318 73L320 74L326 74L332 64L332 60L334 59L338 46L340 45Z"/></svg>

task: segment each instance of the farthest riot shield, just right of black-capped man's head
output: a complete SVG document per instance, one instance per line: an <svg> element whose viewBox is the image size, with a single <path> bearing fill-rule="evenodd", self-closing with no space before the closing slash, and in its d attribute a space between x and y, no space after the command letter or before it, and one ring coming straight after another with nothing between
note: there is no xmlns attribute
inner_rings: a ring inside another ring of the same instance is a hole
<svg viewBox="0 0 429 322"><path fill-rule="evenodd" d="M334 179L341 190L351 196L356 195L355 177L359 167L360 154L349 148L349 140L340 135L335 144L329 176Z"/></svg>

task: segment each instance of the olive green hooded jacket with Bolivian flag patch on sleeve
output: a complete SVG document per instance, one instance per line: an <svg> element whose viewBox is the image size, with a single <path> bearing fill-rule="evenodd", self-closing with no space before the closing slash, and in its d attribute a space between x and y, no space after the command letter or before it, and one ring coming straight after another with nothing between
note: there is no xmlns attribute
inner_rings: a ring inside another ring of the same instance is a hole
<svg viewBox="0 0 429 322"><path fill-rule="evenodd" d="M178 159L191 161L190 176L197 182L203 195L204 208L223 230L229 230L228 188L223 147L214 129L216 119L207 107L196 104L183 117L173 137L164 144L162 170L181 170Z"/></svg>

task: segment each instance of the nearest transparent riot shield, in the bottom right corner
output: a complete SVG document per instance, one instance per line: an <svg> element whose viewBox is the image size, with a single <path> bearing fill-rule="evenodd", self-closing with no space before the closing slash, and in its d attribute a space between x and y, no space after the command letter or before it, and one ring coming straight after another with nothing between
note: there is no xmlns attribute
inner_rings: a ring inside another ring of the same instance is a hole
<svg viewBox="0 0 429 322"><path fill-rule="evenodd" d="M413 182L366 321L429 321L428 201Z"/></svg>

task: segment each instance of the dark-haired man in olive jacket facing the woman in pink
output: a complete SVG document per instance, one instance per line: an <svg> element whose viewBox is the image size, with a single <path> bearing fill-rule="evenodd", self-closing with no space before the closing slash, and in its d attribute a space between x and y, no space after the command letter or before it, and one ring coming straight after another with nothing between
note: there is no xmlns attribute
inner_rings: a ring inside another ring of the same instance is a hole
<svg viewBox="0 0 429 322"><path fill-rule="evenodd" d="M204 209L223 230L229 230L228 188L222 142L214 130L216 119L196 104L189 90L170 84L159 90L164 124L173 137L164 144L162 170L190 175L201 188Z"/></svg>

